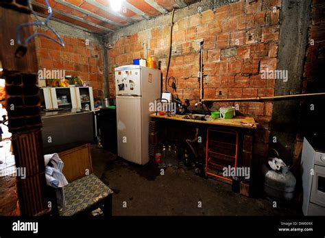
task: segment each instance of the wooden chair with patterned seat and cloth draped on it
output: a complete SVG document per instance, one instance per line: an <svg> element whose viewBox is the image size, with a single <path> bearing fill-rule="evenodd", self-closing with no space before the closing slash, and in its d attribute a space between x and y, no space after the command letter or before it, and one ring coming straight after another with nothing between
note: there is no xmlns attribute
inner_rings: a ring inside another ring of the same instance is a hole
<svg viewBox="0 0 325 238"><path fill-rule="evenodd" d="M56 191L49 187L53 215L89 215L100 208L104 215L112 215L113 191L93 174L90 144L58 153L64 162L63 174L69 185L64 187L66 207L58 210Z"/></svg>

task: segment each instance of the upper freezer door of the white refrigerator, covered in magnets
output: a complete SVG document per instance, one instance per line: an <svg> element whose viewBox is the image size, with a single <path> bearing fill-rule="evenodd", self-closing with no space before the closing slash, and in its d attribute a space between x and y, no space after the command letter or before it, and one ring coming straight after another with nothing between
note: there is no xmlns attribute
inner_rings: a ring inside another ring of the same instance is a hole
<svg viewBox="0 0 325 238"><path fill-rule="evenodd" d="M115 69L116 95L141 95L141 67L125 66Z"/></svg>

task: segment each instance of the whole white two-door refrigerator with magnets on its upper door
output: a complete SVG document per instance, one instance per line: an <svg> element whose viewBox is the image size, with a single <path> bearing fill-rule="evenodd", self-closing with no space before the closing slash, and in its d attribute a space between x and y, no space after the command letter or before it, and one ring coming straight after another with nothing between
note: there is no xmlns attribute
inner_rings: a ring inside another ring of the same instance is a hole
<svg viewBox="0 0 325 238"><path fill-rule="evenodd" d="M149 161L150 104L160 98L160 70L126 65L115 68L117 155L145 165Z"/></svg>

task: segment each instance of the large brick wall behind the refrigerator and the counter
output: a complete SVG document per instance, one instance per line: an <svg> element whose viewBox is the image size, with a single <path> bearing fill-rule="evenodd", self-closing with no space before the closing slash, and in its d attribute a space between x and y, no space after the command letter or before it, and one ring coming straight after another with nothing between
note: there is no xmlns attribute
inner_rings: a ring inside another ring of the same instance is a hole
<svg viewBox="0 0 325 238"><path fill-rule="evenodd" d="M280 0L241 0L178 19L173 25L169 69L169 76L177 80L178 96L190 99L191 105L200 98L197 81L199 39L204 39L204 74L209 76L208 83L204 84L204 99L273 96L274 80L261 79L260 71L276 69L280 6ZM154 55L161 61L165 77L169 54L168 24L166 21L165 25L143 29L116 40L114 49L108 51L111 97L115 97L114 68L132 64L133 58L143 58L143 43L148 44L147 55ZM168 89L172 91L172 88ZM214 104L215 107L234 105L238 105L239 113L252 115L260 123L254 153L266 156L272 102Z"/></svg>

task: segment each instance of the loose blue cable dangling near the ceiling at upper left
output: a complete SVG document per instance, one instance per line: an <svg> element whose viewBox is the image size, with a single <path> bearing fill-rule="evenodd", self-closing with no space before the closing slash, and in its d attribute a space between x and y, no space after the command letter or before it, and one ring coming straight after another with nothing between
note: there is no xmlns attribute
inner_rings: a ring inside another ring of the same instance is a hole
<svg viewBox="0 0 325 238"><path fill-rule="evenodd" d="M17 39L17 43L18 43L19 47L16 49L15 56L17 58L21 58L21 57L25 56L25 53L27 52L27 45L28 45L29 41L32 40L33 38L35 38L36 36L43 36L45 38L48 38L49 40L52 40L55 43L58 43L62 47L64 47L64 42L63 42L62 38L59 36L59 34L52 27L50 27L47 24L49 22L49 19L51 19L51 16L53 14L51 5L49 5L49 1L45 0L45 3L47 5L47 12L49 12L49 15L47 16L45 21L41 21L39 19L38 15L33 10L31 0L27 0L27 2L28 2L29 9L31 10L32 14L34 14L37 21L33 22L33 23L23 23L23 24L21 24L21 25L19 25L17 27L17 29L16 29L16 39ZM53 32L56 35L58 40L56 40L54 38L51 38L50 36L47 36L46 34L43 34L43 33L34 33L31 36L28 36L25 39L24 43L22 44L22 41L21 41L21 28L28 27L28 26L34 26L34 25L36 25L36 26L45 25L47 28L49 28L51 30L51 32Z"/></svg>

